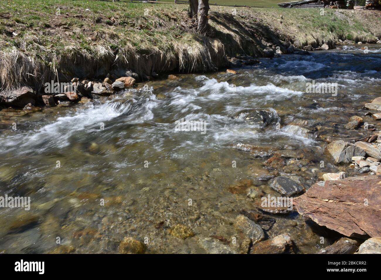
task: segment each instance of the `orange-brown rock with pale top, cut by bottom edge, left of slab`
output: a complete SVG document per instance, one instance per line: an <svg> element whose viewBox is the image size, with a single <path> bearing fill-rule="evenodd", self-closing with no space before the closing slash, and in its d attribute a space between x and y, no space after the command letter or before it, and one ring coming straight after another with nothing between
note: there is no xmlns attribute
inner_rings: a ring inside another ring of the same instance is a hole
<svg viewBox="0 0 381 280"><path fill-rule="evenodd" d="M253 246L250 254L286 254L294 253L290 235L281 234Z"/></svg>

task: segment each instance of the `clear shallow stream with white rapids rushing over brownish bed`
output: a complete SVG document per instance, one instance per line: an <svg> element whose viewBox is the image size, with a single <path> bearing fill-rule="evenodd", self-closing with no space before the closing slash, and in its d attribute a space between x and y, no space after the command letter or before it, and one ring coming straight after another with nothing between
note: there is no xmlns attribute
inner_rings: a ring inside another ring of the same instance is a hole
<svg viewBox="0 0 381 280"><path fill-rule="evenodd" d="M236 69L237 75L180 75L179 81L148 82L148 91L86 104L0 111L0 196L31 198L29 211L0 209L0 252L49 253L60 237L61 246L73 246L76 253L117 253L130 236L146 238L148 253L207 253L203 240L231 240L239 212L260 200L230 192L240 180L251 179L252 189L274 194L259 176L296 173L310 186L320 173L354 174L347 166L320 168L320 160L327 136L363 135L342 124L363 116L363 104L381 96L381 47L367 46L368 53L344 46L260 59ZM337 82L337 96L306 93L312 80ZM275 121L265 127L248 122L240 113L252 109L273 112ZM182 118L202 120L206 133L176 131ZM364 121L375 123L367 116ZM271 152L285 149L303 153L304 163L292 170L263 165ZM265 216L276 220L265 236L289 233L298 253L315 253L337 238L295 210ZM171 235L179 223L194 237Z"/></svg>

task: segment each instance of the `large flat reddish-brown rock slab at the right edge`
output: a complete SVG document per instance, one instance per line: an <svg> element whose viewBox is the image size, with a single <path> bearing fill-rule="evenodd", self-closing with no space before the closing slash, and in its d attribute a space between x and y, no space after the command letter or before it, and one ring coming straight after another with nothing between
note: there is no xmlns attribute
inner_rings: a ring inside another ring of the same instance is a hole
<svg viewBox="0 0 381 280"><path fill-rule="evenodd" d="M299 214L348 237L381 236L381 175L314 184L293 199Z"/></svg>

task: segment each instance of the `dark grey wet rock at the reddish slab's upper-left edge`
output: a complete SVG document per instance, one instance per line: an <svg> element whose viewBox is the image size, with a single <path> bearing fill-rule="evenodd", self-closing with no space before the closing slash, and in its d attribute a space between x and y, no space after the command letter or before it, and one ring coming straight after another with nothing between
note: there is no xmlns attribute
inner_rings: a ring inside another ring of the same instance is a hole
<svg viewBox="0 0 381 280"><path fill-rule="evenodd" d="M270 187L282 195L291 197L305 192L304 180L299 176L278 176L271 181Z"/></svg>

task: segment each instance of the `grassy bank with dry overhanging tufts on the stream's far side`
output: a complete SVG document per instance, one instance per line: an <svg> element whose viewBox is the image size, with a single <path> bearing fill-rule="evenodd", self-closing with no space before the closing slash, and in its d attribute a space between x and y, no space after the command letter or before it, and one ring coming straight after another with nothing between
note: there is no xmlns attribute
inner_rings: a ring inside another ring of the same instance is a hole
<svg viewBox="0 0 381 280"><path fill-rule="evenodd" d="M187 5L81 0L0 4L0 87L104 77L112 69L211 71L227 56L261 56L271 44L334 45L381 37L378 11L211 6L210 32L190 28Z"/></svg>

